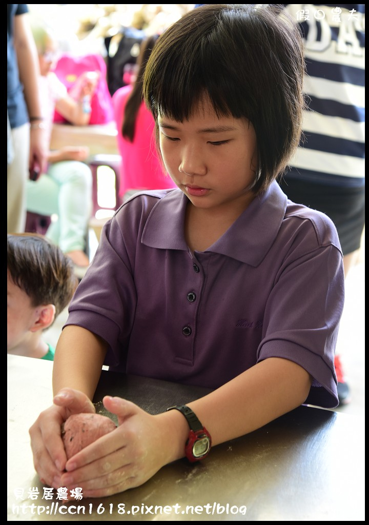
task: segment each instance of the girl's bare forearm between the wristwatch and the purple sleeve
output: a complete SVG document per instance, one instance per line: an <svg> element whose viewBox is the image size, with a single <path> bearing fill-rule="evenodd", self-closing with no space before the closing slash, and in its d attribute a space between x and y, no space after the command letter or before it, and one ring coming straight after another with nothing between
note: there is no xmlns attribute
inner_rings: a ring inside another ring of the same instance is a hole
<svg viewBox="0 0 369 525"><path fill-rule="evenodd" d="M269 358L225 385L189 403L213 445L243 436L300 406L311 377L300 365Z"/></svg>

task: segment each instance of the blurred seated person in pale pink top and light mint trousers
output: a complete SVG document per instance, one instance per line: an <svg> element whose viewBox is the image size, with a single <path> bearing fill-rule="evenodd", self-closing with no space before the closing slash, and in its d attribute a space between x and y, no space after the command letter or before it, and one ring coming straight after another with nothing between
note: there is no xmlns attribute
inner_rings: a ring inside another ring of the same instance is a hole
<svg viewBox="0 0 369 525"><path fill-rule="evenodd" d="M55 108L72 124L89 123L91 108L86 107L85 97L92 95L96 79L83 75L79 80L79 96L72 98L65 85L51 71L58 48L52 30L36 18L31 20L31 29L38 52L38 85L43 101L41 112L49 144ZM27 210L58 216L50 223L46 236L72 259L79 277L83 277L89 266L85 250L92 205L92 175L90 167L83 162L88 155L87 146L71 145L49 150L47 170L37 181L27 181Z"/></svg>

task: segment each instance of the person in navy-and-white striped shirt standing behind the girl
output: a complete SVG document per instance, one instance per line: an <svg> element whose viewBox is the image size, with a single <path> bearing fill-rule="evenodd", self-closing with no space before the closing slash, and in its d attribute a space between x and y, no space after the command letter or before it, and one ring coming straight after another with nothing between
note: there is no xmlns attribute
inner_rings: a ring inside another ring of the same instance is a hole
<svg viewBox="0 0 369 525"><path fill-rule="evenodd" d="M300 146L279 182L291 201L333 220L346 277L365 224L365 5L283 5L303 36L307 109ZM335 369L340 404L349 403L340 355Z"/></svg>

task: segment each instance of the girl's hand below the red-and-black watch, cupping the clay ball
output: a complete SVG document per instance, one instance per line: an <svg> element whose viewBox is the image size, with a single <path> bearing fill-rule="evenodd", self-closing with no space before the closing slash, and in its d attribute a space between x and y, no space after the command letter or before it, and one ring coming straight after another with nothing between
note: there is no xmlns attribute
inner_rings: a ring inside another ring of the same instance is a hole
<svg viewBox="0 0 369 525"><path fill-rule="evenodd" d="M83 497L138 487L176 459L165 443L165 413L153 416L120 397L106 396L103 404L117 414L119 426L72 456L60 479L61 487L82 487Z"/></svg>

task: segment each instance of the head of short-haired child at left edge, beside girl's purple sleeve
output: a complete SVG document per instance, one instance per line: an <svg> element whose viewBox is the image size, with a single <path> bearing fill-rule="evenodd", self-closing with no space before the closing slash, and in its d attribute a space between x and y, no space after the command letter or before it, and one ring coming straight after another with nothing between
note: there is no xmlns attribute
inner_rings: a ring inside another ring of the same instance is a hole
<svg viewBox="0 0 369 525"><path fill-rule="evenodd" d="M78 279L73 263L41 235L8 234L7 349L26 345L66 308Z"/></svg>

